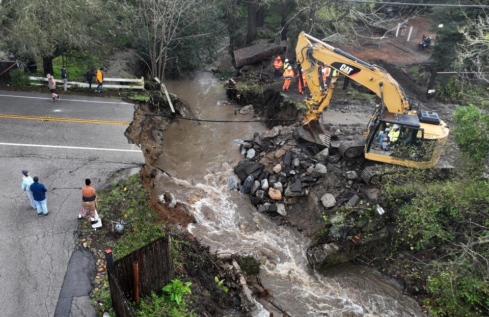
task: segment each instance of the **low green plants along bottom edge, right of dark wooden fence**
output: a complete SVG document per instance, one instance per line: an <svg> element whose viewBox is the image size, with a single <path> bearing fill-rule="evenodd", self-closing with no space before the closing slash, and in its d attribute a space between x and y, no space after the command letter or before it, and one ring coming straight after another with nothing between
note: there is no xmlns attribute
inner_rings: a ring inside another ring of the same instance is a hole
<svg viewBox="0 0 489 317"><path fill-rule="evenodd" d="M140 300L139 307L133 307L136 317L197 317L193 311L189 311L185 301L180 304L170 301L166 295L157 296L154 292L150 297Z"/></svg>

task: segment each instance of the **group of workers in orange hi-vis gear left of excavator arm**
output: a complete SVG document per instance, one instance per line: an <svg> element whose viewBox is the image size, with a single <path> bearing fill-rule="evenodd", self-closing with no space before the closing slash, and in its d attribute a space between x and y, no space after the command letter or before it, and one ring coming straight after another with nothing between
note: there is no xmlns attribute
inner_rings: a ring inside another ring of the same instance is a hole
<svg viewBox="0 0 489 317"><path fill-rule="evenodd" d="M290 87L290 83L292 82L292 78L294 77L294 71L292 66L289 64L289 60L285 59L282 62L282 58L277 56L274 61L274 69L275 69L275 78L284 77L284 85L282 86L283 91L288 91ZM298 69L297 69L298 71ZM299 74L301 76L299 76ZM321 66L321 74L318 74L319 80L323 86L323 90L328 88L328 83L331 82L331 77L338 76L338 71L336 69L332 69L328 65ZM297 93L303 94L305 88L307 86L306 83L306 74L304 73L304 69L301 68L301 71L298 71L297 74L297 83L298 83L298 91Z"/></svg>

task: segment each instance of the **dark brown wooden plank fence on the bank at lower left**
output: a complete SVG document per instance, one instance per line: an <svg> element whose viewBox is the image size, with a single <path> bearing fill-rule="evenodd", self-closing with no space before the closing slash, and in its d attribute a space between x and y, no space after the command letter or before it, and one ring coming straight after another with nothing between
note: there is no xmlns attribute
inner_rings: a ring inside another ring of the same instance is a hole
<svg viewBox="0 0 489 317"><path fill-rule="evenodd" d="M170 235L114 261L112 250L105 251L112 306L117 317L132 316L128 301L135 302L133 262L138 262L138 296L151 292L161 294L161 288L173 277L173 253Z"/></svg>

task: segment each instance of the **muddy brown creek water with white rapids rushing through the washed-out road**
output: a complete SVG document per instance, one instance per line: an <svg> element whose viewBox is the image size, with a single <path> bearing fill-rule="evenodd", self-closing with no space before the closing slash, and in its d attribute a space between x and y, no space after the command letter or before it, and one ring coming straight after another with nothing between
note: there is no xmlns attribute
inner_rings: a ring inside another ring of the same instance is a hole
<svg viewBox="0 0 489 317"><path fill-rule="evenodd" d="M228 64L225 52L220 63ZM221 66L222 68L222 66ZM226 99L223 82L212 73L198 71L192 78L167 81L170 92L185 99L200 118L245 120L234 115L235 105L220 105ZM179 120L164 131L165 153L153 166L173 178L168 187L183 187L205 193L191 206L197 223L188 230L212 250L233 250L254 255L262 263L260 279L291 316L422 316L423 312L399 285L374 271L345 264L314 272L306 250L312 241L295 228L277 226L256 212L248 195L228 191L226 178L243 155L234 139L249 139L260 123L202 123ZM254 316L268 317L275 311L266 302L257 304Z"/></svg>

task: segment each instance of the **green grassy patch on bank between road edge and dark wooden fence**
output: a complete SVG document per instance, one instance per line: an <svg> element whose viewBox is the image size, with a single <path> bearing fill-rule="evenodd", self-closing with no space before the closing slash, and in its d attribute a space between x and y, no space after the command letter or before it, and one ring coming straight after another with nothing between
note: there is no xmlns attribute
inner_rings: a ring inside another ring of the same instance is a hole
<svg viewBox="0 0 489 317"><path fill-rule="evenodd" d="M121 258L165 235L140 177L136 174L119 180L111 191L98 194L100 218L127 223L124 235L112 248L115 258Z"/></svg>

